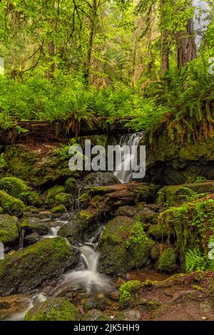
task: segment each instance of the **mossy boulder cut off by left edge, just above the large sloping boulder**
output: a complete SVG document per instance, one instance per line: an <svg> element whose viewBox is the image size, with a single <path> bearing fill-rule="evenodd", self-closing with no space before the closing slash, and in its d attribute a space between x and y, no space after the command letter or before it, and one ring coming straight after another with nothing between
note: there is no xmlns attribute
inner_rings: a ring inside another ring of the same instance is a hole
<svg viewBox="0 0 214 335"><path fill-rule="evenodd" d="M0 243L15 245L19 241L17 217L0 215Z"/></svg>

